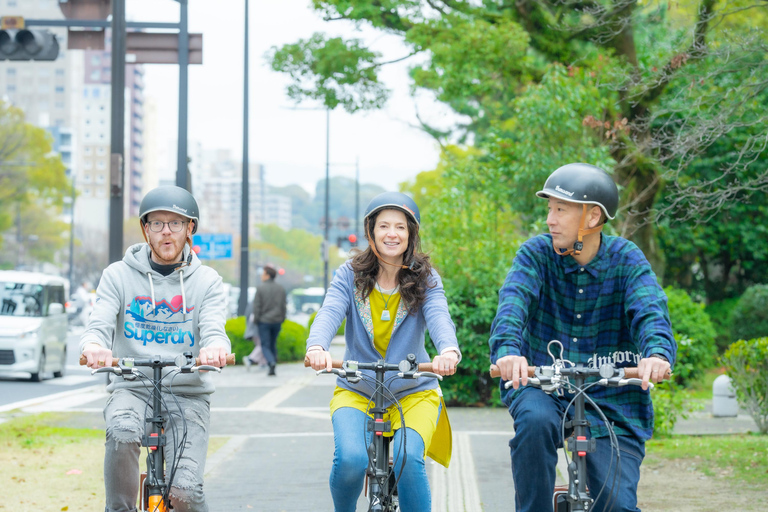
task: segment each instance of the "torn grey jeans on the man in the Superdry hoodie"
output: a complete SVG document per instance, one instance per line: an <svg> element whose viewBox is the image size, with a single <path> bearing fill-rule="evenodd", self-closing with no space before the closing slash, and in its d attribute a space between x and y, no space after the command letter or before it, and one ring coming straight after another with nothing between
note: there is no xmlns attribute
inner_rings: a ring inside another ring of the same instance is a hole
<svg viewBox="0 0 768 512"><path fill-rule="evenodd" d="M210 404L206 395L176 396L163 393L166 414L166 478L175 460L175 445L181 442L182 417L187 421L187 440L171 486L171 503L179 512L208 512L203 493L203 472L208 451L208 425ZM149 392L143 389L118 389L112 393L104 409L107 423L107 440L104 454L104 487L106 488L106 512L133 512L139 494L139 457L141 436L149 425L144 421L149 414ZM180 409L179 409L180 407ZM177 435L174 439L175 420ZM143 464L142 464L143 466Z"/></svg>

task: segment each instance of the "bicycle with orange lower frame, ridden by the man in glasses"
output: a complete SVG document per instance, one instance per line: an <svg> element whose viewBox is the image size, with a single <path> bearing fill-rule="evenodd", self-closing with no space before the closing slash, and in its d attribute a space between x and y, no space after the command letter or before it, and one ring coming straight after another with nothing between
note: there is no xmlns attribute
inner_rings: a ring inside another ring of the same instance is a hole
<svg viewBox="0 0 768 512"><path fill-rule="evenodd" d="M85 356L80 356L80 364L87 364ZM227 355L227 364L235 364L235 355ZM152 376L148 377L144 374L139 367L146 367L152 369ZM171 371L166 375L163 375L163 370L170 368ZM163 414L163 409L168 410L165 399L162 396L163 380L168 377L173 377L179 373L192 373L200 370L221 372L221 368L210 365L201 365L199 358L192 357L191 352L184 352L174 358L162 358L160 356L153 356L149 359L135 359L132 357L123 357L120 359L114 359L111 367L97 368L91 371L91 375L97 373L112 373L114 375L122 376L127 380L134 380L136 378L147 379L151 386L151 396L147 401L147 417L146 422L151 425L149 433L145 433L141 439L141 446L147 448L147 471L141 473L139 489L139 511L140 512L168 512L172 510L168 493L173 483L173 478L176 472L176 465L173 465L169 471L168 479L166 481L165 471L165 450L164 447L168 444L168 438L166 436L166 424L170 423L171 426L171 438L174 440L174 446L176 450L176 461L181 459L181 454L184 451L184 441L187 435L186 419L182 416L182 432L181 436L177 435L177 426L175 420L171 418L170 421ZM172 397L172 390L170 387L166 389ZM165 405L165 407L164 407ZM178 442L176 442L178 440Z"/></svg>

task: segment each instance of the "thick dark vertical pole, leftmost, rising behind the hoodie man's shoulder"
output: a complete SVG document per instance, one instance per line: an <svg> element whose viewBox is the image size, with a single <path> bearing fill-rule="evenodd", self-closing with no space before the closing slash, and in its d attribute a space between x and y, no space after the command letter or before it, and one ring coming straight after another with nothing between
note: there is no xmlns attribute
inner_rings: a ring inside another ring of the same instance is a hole
<svg viewBox="0 0 768 512"><path fill-rule="evenodd" d="M123 257L125 154L125 0L112 1L112 127L110 140L109 262Z"/></svg>

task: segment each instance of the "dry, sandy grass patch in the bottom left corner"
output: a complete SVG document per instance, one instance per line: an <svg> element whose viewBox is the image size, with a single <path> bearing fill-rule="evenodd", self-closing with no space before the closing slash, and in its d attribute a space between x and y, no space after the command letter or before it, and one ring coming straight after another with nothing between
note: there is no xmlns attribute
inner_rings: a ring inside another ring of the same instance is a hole
<svg viewBox="0 0 768 512"><path fill-rule="evenodd" d="M104 430L60 426L71 418L44 413L0 423L0 511L104 510ZM208 456L228 440L211 438ZM140 460L143 468L143 451Z"/></svg>

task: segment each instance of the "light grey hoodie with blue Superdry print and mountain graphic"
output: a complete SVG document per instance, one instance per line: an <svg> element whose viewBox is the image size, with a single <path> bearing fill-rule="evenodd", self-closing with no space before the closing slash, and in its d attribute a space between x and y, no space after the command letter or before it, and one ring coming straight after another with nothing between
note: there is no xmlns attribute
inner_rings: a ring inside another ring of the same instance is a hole
<svg viewBox="0 0 768 512"><path fill-rule="evenodd" d="M174 357L200 347L231 350L224 330L226 297L221 277L203 266L197 255L185 246L184 261L189 261L168 276L152 270L149 245L128 248L122 261L104 270L96 290L96 304L88 327L80 338L80 351L87 343L112 350L115 357L145 358L155 355ZM151 369L140 368L147 375ZM173 380L171 380L173 379ZM143 379L133 382L110 375L107 391L118 388L144 388ZM210 394L214 385L210 374L181 374L167 378L179 394Z"/></svg>

